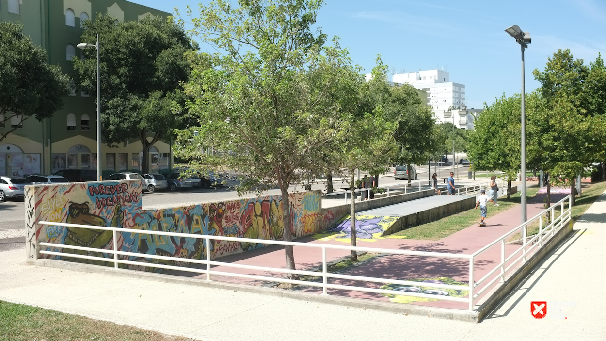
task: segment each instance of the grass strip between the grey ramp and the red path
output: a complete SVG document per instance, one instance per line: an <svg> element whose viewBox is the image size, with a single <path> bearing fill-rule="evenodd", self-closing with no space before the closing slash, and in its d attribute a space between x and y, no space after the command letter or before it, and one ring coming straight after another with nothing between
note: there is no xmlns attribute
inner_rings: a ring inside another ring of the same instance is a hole
<svg viewBox="0 0 606 341"><path fill-rule="evenodd" d="M476 174L476 177L477 176L478 175ZM527 200L534 198L538 191L539 187L528 187L526 190ZM499 206L489 206L486 218L490 218L493 215L513 208L513 206L518 205L520 201L521 198L519 192L511 195L510 199L499 198ZM470 209L458 214L449 215L448 217L444 217L440 220L432 221L431 223L396 232L391 236L399 238L405 237L408 239L439 240L453 234L454 232L461 231L473 223L478 223L480 220L479 217L479 209Z"/></svg>

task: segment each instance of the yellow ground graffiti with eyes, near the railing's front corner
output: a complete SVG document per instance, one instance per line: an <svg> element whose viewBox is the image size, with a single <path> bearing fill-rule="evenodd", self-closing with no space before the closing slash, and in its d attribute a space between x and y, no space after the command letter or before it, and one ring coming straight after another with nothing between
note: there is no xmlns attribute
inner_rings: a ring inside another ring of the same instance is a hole
<svg viewBox="0 0 606 341"><path fill-rule="evenodd" d="M431 302L431 301L438 301L440 296L465 297L465 296L469 295L469 291L467 291L467 290L430 288L428 286L423 285L423 283L435 283L435 284L451 284L451 285L467 286L467 283L457 282L456 280L453 280L450 277L437 277L435 279L411 279L408 281L419 282L419 285L387 284L387 285L381 286L381 289L395 290L395 291L402 291L402 292L415 292L416 294L436 295L436 299L427 299L425 297L413 297L413 296L405 296L405 295L391 295L391 294L381 294L381 295L384 295L385 297L389 297L389 300L391 302L398 302L398 303Z"/></svg>

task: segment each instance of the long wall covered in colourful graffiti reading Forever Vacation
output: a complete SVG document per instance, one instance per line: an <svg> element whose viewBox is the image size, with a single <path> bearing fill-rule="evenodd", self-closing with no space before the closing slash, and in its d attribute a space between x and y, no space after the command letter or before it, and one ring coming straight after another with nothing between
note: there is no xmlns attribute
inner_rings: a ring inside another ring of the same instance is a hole
<svg viewBox="0 0 606 341"><path fill-rule="evenodd" d="M35 208L32 209L32 217L35 215L35 219L32 219L32 223L46 220L88 226L267 240L282 239L284 234L284 212L282 212L279 195L145 210L141 206L141 183L137 181L33 186L28 188L27 193L29 200L35 202ZM293 226L291 234L295 238L321 232L327 226L327 221L335 219L331 212L321 213L321 198L317 192L291 194L290 202L292 211L290 218ZM38 243L46 241L72 246L113 249L113 232L95 228L38 225L36 241ZM118 250L125 252L190 259L201 259L206 256L205 242L201 238L118 233L116 243ZM264 246L267 245L212 240L210 256L211 258L225 257ZM61 248L47 247L46 249L62 251ZM73 249L64 249L62 252L104 258L113 257L104 252ZM44 257L58 258L53 255L44 255ZM119 258L177 266L184 263L122 255ZM102 260L84 260L67 256L63 256L61 259L113 266L113 262ZM119 266L156 271L153 265L142 267L120 264Z"/></svg>

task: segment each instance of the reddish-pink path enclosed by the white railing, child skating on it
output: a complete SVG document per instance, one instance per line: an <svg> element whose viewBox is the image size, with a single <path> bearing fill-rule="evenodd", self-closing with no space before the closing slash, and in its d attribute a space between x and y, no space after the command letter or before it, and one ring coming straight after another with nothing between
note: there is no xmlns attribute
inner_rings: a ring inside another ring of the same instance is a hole
<svg viewBox="0 0 606 341"><path fill-rule="evenodd" d="M558 202L565 194L551 194L551 201ZM539 214L543 208L544 195L537 195L527 205L527 217L531 218ZM566 207L567 208L567 207ZM488 207L490 211L490 206ZM479 210L478 221L479 221ZM556 217L559 212L556 210ZM505 233L516 228L521 222L521 206L515 206L507 211L494 215L486 220L487 226L479 227L477 224L471 225L468 228L448 235L437 241L429 240L412 240L403 238L378 238L373 241L358 240L358 246L368 248L382 249L407 249L413 251L430 251L430 252L445 252L453 254L473 254L484 246L496 240ZM328 244L328 245L349 245L342 241L317 240L315 238L299 238L296 241L313 243L313 244ZM529 246L530 247L530 246ZM511 255L514 251L521 248L521 245L511 244L505 245L505 257ZM322 265L322 250L320 248L306 248L296 246L294 248L296 268L300 270L310 269L315 266ZM331 262L338 258L345 257L350 254L350 251L339 249L327 249L327 261ZM513 260L518 256L513 257ZM270 246L267 248L256 249L253 251L244 252L238 255L232 255L218 259L220 262L238 263L245 265L266 266L271 268L285 268L284 248L278 246ZM497 243L487 249L478 257L474 258L474 281L478 281L487 274L494 266L501 263L501 243ZM514 267L513 267L514 268ZM284 278L285 274L281 272L255 271L248 269L231 268L229 266L213 266L215 271L232 272L238 274L264 275L268 277L276 277L276 282L280 278ZM194 275L191 272L176 272L171 271L169 274L193 276L195 278L206 279L206 274ZM366 277L379 277L384 279L398 280L413 280L413 279L431 279L436 277L450 277L458 282L467 284L469 282L469 261L463 258L438 258L413 255L384 255L381 257L371 258L361 265L355 266L343 272L348 275L359 275ZM491 278L499 275L500 271L496 271ZM268 282L262 280L243 279L238 277L229 277L222 275L213 275L213 280L231 283L241 283L247 285L267 285ZM367 288L380 288L382 283L328 279L328 283L339 285L365 286ZM496 285L496 284L494 284ZM475 289L481 289L484 285ZM322 292L322 288L307 286L303 291ZM489 289L485 292L490 291ZM358 297L362 299L384 300L389 298L381 294L360 291L344 291L338 289L328 289L328 294L341 295L348 297ZM439 296L436 296L439 298ZM481 297L479 297L481 298ZM477 302L477 301L476 301ZM452 302L447 300L438 300L433 302L414 302L417 305L436 306L441 308L467 309L468 303Z"/></svg>

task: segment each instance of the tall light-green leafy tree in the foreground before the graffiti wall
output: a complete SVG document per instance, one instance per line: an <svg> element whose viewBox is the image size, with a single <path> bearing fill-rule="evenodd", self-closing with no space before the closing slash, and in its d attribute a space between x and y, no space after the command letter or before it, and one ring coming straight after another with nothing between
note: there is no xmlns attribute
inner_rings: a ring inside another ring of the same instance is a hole
<svg viewBox="0 0 606 341"><path fill-rule="evenodd" d="M217 0L201 5L192 32L221 53L190 53L187 103L198 127L178 132L177 154L193 169L229 167L243 175L242 192L279 187L286 241L292 240L291 186L325 169L324 147L339 122L333 93L347 69L345 51L322 49L326 36L313 32L320 1ZM188 8L189 15L193 10ZM193 130L198 130L198 135ZM215 147L219 155L200 155ZM293 248L285 248L295 269ZM290 274L296 279L296 274Z"/></svg>

